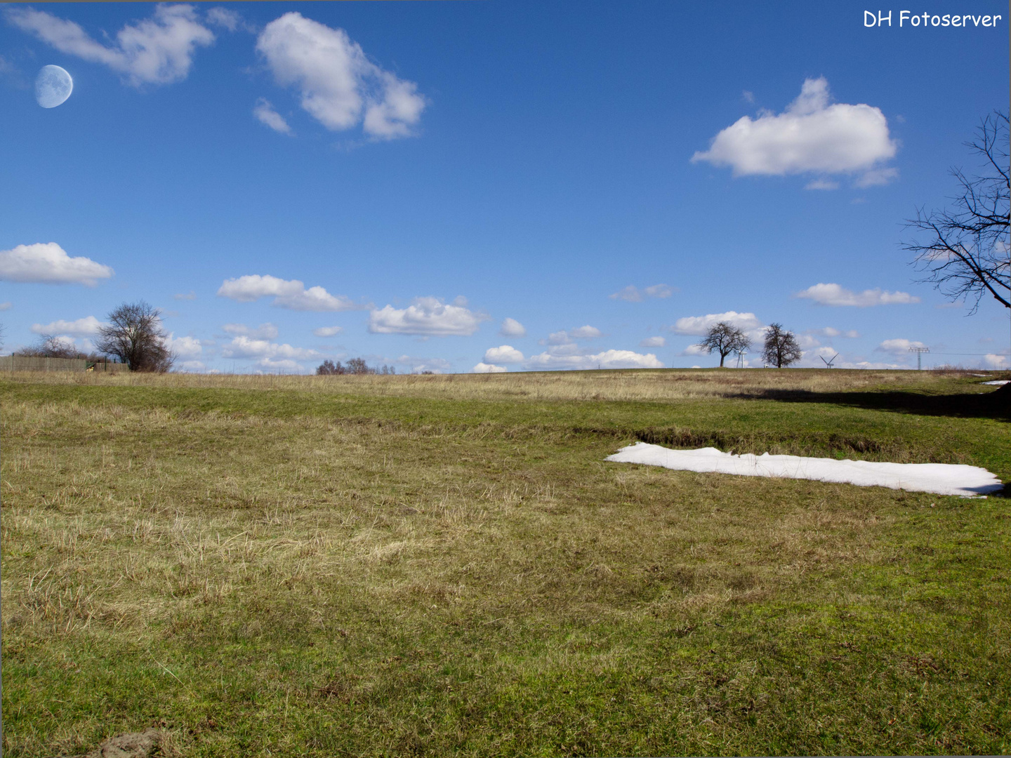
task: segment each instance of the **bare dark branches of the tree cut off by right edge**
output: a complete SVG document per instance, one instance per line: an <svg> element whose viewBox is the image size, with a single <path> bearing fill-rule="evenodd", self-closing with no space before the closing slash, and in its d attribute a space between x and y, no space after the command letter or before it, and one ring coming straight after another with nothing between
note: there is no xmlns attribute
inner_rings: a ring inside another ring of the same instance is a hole
<svg viewBox="0 0 1011 758"><path fill-rule="evenodd" d="M1011 308L1007 114L994 111L984 118L966 147L984 159L982 174L968 176L952 168L958 196L945 210L918 209L907 226L925 236L903 248L926 273L920 281L933 282L951 300L972 300L971 312L984 295Z"/></svg>

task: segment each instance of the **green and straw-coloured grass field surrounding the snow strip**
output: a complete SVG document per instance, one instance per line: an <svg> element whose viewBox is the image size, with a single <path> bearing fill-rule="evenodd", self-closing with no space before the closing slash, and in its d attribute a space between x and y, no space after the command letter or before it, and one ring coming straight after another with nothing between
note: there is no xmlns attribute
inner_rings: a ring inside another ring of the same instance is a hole
<svg viewBox="0 0 1011 758"><path fill-rule="evenodd" d="M4 754L1007 753L1007 498L604 461L1011 482L981 381L0 377Z"/></svg>

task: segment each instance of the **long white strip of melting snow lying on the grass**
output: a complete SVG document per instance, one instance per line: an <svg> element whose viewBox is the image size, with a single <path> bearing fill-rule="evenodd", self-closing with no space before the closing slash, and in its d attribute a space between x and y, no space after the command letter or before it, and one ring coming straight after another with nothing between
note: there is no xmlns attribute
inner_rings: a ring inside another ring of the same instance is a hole
<svg viewBox="0 0 1011 758"><path fill-rule="evenodd" d="M842 482L861 487L891 487L939 495L979 497L1003 488L1001 480L978 466L946 463L878 463L836 461L831 458L760 456L721 453L716 448L671 450L659 445L636 443L622 448L605 460L642 463L677 471L715 472L740 476L774 476L785 479L814 479Z"/></svg>

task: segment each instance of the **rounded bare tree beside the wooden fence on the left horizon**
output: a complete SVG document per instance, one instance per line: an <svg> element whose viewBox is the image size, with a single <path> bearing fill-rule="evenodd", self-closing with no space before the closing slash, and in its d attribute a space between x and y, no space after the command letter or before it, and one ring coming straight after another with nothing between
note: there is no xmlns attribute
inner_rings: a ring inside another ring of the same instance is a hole
<svg viewBox="0 0 1011 758"><path fill-rule="evenodd" d="M166 344L168 335L158 308L144 300L123 303L108 319L98 331L99 352L118 358L130 371L164 373L172 368L175 356Z"/></svg>

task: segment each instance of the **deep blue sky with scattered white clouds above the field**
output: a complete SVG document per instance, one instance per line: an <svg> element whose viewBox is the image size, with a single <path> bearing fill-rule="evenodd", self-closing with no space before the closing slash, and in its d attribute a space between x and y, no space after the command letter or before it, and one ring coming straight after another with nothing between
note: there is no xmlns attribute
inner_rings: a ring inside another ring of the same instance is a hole
<svg viewBox="0 0 1011 758"><path fill-rule="evenodd" d="M971 5L1004 18L5 6L5 352L43 331L87 349L143 298L191 371L713 366L691 346L720 318L782 322L803 365L915 367L922 344L928 365L1007 367L1008 309L967 316L899 247L1008 108L1007 5ZM73 77L57 107L35 100L45 65Z"/></svg>

